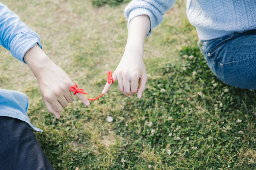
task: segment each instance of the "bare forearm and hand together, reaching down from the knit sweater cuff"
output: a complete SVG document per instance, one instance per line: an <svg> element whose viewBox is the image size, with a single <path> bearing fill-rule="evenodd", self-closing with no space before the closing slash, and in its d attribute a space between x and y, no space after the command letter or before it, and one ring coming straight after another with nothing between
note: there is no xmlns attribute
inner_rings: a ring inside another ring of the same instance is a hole
<svg viewBox="0 0 256 170"><path fill-rule="evenodd" d="M137 93L140 99L146 87L147 71L143 51L149 31L150 18L147 15L136 16L130 21L125 51L112 75L113 80L118 81L119 90L128 97ZM106 93L110 86L107 82L102 93Z"/></svg>

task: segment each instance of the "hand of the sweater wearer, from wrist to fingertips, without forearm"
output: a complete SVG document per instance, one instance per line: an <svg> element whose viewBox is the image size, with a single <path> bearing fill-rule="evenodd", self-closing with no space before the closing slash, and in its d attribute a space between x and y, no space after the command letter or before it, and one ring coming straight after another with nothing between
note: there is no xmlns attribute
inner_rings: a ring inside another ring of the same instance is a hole
<svg viewBox="0 0 256 170"><path fill-rule="evenodd" d="M113 80L118 80L118 88L124 95L131 97L137 93L140 99L147 82L147 71L143 62L143 49L129 50L126 48L123 57L116 67ZM138 83L139 82L139 83ZM106 83L102 93L106 93L111 84Z"/></svg>

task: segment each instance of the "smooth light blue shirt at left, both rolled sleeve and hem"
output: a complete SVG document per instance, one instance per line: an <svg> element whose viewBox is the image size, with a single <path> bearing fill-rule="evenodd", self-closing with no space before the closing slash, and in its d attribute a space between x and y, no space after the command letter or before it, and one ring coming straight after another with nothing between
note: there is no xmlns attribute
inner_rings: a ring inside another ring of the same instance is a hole
<svg viewBox="0 0 256 170"><path fill-rule="evenodd" d="M20 18L0 2L0 44L11 52L18 60L24 62L25 53L38 44L40 37L31 30ZM25 62L24 62L25 63ZM0 88L0 116L20 119L34 130L41 131L30 123L27 115L28 98L26 94L14 90Z"/></svg>

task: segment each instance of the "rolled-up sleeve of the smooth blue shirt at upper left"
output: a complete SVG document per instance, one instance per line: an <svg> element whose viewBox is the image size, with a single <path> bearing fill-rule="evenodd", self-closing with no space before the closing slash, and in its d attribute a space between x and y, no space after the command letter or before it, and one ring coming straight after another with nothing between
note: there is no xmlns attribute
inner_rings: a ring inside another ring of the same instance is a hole
<svg viewBox="0 0 256 170"><path fill-rule="evenodd" d="M38 44L42 48L39 35L1 2L0 44L23 63L23 57L31 47Z"/></svg>

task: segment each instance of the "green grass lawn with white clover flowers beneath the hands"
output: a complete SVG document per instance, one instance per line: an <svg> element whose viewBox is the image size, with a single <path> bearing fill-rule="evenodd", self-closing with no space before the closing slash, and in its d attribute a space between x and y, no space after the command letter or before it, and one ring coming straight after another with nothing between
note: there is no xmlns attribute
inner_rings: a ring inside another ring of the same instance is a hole
<svg viewBox="0 0 256 170"><path fill-rule="evenodd" d="M46 54L88 97L101 93L106 72L124 52L127 4L2 3L38 32ZM196 42L179 0L146 39L150 77L140 100L122 95L115 82L88 107L75 98L58 120L47 112L29 68L2 47L1 88L28 95L31 123L44 130L35 135L54 169L256 169L255 91L219 81Z"/></svg>

